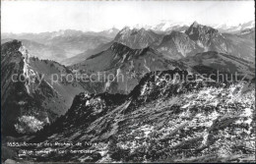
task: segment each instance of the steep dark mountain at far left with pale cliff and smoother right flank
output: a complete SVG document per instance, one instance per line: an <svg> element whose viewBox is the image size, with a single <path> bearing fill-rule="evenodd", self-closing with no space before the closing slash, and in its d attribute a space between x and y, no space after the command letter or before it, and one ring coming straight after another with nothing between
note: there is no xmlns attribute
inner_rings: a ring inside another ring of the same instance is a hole
<svg viewBox="0 0 256 164"><path fill-rule="evenodd" d="M30 57L30 52L21 41L2 44L3 133L15 135L36 132L63 115L78 93L102 92L102 83L70 79L74 76L57 62Z"/></svg>

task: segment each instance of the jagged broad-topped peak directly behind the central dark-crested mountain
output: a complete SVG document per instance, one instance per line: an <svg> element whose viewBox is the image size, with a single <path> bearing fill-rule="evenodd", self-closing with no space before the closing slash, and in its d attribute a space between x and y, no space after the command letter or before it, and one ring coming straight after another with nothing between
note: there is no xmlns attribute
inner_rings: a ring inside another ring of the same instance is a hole
<svg viewBox="0 0 256 164"><path fill-rule="evenodd" d="M158 45L161 38L161 34L158 34L151 29L130 29L130 27L124 27L116 34L114 41L127 45L133 49L141 49L148 46Z"/></svg>

